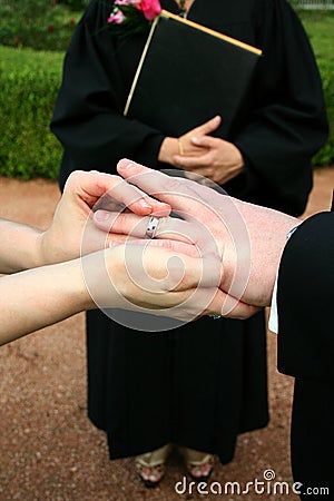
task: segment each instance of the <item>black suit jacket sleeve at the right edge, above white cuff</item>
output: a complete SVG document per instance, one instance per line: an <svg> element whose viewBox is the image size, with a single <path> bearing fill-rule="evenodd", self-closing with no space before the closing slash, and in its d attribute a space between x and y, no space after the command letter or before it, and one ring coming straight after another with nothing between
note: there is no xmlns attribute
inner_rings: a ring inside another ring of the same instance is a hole
<svg viewBox="0 0 334 501"><path fill-rule="evenodd" d="M278 370L334 381L334 213L306 219L283 253L278 284Z"/></svg>

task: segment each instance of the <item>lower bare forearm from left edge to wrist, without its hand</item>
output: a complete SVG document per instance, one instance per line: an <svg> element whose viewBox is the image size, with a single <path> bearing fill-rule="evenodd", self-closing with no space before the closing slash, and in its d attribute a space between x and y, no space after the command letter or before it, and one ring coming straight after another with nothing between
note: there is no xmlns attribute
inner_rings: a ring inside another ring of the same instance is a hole
<svg viewBox="0 0 334 501"><path fill-rule="evenodd" d="M0 279L0 344L94 306L79 259Z"/></svg>

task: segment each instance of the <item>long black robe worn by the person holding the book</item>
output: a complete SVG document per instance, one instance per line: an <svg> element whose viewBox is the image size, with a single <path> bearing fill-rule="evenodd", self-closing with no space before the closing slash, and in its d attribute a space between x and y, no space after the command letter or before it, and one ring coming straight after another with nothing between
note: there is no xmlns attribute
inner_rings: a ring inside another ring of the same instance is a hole
<svg viewBox="0 0 334 501"><path fill-rule="evenodd" d="M163 8L178 12L174 0ZM75 169L115 173L120 158L151 168L159 130L122 116L146 37L115 37L110 3L92 1L65 60L51 128L63 145L60 186ZM188 18L264 51L244 127L229 138L245 159L224 188L243 199L299 215L312 188L311 157L327 124L305 32L284 0L196 0ZM170 166L169 166L170 167ZM268 421L264 315L247 322L202 318L143 333L87 315L88 413L107 431L111 458L168 442L234 454L238 433Z"/></svg>

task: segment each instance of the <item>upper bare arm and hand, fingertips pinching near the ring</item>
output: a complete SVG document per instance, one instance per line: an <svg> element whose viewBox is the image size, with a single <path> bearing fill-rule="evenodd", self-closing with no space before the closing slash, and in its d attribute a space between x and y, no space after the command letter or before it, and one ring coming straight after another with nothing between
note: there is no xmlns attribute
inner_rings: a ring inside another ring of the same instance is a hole
<svg viewBox="0 0 334 501"><path fill-rule="evenodd" d="M97 204L129 207L137 215L169 214L169 206L130 187L119 176L98 171L75 171L68 178L50 227L0 219L0 273L14 273L45 264L79 257L84 232L89 238L86 253L108 246L106 235L91 224Z"/></svg>

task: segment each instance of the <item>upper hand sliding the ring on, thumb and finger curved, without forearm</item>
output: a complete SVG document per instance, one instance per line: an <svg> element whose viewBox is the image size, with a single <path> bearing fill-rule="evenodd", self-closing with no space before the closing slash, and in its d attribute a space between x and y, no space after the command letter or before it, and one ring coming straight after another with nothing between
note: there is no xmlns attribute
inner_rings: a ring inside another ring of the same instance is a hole
<svg viewBox="0 0 334 501"><path fill-rule="evenodd" d="M138 216L168 215L170 207L130 186L121 177L96 170L73 171L65 186L51 226L38 236L39 263L69 261L108 246L109 237L92 224L97 208L122 210Z"/></svg>

